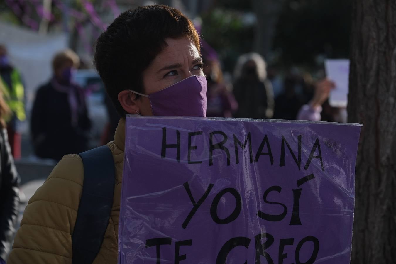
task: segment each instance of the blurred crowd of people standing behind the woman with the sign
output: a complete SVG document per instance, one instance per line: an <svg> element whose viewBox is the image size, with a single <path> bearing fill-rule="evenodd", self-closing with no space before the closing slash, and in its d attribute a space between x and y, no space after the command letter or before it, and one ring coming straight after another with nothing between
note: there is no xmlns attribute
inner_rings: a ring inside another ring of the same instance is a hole
<svg viewBox="0 0 396 264"><path fill-rule="evenodd" d="M308 73L280 72L258 53L240 55L233 74L223 73L218 53L202 40L202 58L207 87L207 116L281 120L346 122L345 108L328 103L333 82L322 76L314 81ZM30 117L30 140L39 158L59 161L65 154L80 153L92 147L92 122L87 106L89 91L74 80L80 58L71 49L55 55L52 77L38 87L34 104L26 114L24 81L0 45L1 91L10 113L4 116L8 141L15 159L21 157L18 123ZM107 125L99 144L112 140L119 115L109 97L103 95ZM59 140L61 139L61 140Z"/></svg>

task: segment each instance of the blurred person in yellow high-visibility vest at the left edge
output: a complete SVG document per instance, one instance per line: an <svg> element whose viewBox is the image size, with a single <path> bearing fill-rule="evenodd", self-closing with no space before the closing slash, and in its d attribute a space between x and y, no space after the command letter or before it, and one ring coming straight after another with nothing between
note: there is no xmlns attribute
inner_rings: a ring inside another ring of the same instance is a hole
<svg viewBox="0 0 396 264"><path fill-rule="evenodd" d="M26 120L25 88L19 71L11 65L5 46L0 44L0 83L4 100L11 110L7 117L8 141L15 159L21 158L21 133L18 122Z"/></svg>

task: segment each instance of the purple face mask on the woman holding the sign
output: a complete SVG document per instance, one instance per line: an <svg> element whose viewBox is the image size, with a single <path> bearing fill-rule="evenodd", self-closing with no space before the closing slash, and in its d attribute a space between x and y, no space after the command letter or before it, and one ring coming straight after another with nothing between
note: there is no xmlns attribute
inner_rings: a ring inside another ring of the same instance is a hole
<svg viewBox="0 0 396 264"><path fill-rule="evenodd" d="M206 78L191 76L148 97L154 116L206 117Z"/></svg>

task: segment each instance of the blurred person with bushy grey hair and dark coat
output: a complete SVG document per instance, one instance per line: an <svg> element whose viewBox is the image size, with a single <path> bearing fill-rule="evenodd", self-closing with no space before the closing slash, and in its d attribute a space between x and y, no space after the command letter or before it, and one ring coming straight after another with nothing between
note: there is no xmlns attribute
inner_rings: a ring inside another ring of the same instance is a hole
<svg viewBox="0 0 396 264"><path fill-rule="evenodd" d="M238 118L272 118L274 92L267 79L266 63L258 53L239 57L234 70L234 95Z"/></svg>

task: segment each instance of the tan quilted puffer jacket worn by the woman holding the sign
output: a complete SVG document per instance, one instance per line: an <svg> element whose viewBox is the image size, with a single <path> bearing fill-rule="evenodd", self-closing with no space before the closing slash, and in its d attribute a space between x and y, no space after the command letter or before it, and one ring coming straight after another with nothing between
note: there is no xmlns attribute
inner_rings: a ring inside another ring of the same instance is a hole
<svg viewBox="0 0 396 264"><path fill-rule="evenodd" d="M125 119L109 146L116 168L113 206L94 264L117 263L118 218L124 165ZM72 234L80 203L84 168L78 155L67 155L32 196L23 214L8 264L71 264Z"/></svg>

